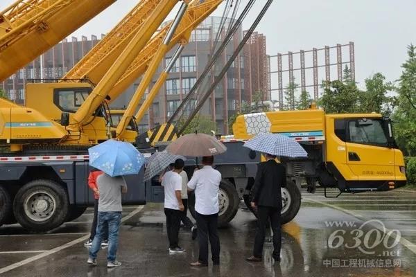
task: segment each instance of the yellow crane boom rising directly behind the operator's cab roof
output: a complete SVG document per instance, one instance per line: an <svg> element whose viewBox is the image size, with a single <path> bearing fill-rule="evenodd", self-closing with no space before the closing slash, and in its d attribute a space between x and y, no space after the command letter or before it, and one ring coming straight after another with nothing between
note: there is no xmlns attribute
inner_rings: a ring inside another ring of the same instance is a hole
<svg viewBox="0 0 416 277"><path fill-rule="evenodd" d="M62 79L86 78L98 84L128 42L162 0L142 0Z"/></svg>

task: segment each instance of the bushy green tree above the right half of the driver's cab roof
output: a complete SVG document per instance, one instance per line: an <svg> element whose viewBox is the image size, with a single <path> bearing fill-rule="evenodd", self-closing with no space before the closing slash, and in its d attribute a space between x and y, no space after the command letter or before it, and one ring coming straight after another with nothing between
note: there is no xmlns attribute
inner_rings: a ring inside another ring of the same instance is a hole
<svg viewBox="0 0 416 277"><path fill-rule="evenodd" d="M392 110L393 98L387 95L394 89L391 82L385 82L381 73L375 73L365 79L365 91L359 97L360 111L365 113L376 112L388 116Z"/></svg>

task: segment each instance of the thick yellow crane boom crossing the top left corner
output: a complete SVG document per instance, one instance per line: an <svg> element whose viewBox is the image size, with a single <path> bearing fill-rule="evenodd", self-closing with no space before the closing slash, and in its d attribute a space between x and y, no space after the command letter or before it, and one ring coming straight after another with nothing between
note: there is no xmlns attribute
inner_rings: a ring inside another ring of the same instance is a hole
<svg viewBox="0 0 416 277"><path fill-rule="evenodd" d="M0 81L116 0L19 0L0 14ZM30 46L30 47L29 47Z"/></svg>

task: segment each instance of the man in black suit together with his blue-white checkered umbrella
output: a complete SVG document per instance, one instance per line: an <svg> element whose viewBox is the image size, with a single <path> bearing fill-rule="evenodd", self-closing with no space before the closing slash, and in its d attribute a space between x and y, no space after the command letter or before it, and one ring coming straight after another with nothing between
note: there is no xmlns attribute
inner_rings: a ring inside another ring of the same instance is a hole
<svg viewBox="0 0 416 277"><path fill-rule="evenodd" d="M286 186L286 169L277 163L276 157L307 157L302 145L281 134L258 134L246 141L244 146L265 153L266 161L257 166L251 199L252 208L257 210L258 226L250 262L261 262L266 228L270 220L273 231L273 253L276 262L280 261L281 248L281 188Z"/></svg>

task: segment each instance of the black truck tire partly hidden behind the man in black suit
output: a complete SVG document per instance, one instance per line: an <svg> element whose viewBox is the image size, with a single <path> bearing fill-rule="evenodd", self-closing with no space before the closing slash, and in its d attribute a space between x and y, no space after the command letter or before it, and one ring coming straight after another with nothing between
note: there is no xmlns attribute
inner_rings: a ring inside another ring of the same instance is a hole
<svg viewBox="0 0 416 277"><path fill-rule="evenodd" d="M250 195L244 195L243 198L245 206L257 217L256 211L250 204L252 190L253 188L250 190ZM282 208L280 220L281 224L285 224L291 222L297 215L297 212L299 212L301 203L300 191L292 181L288 181L286 188L281 188L281 198Z"/></svg>

